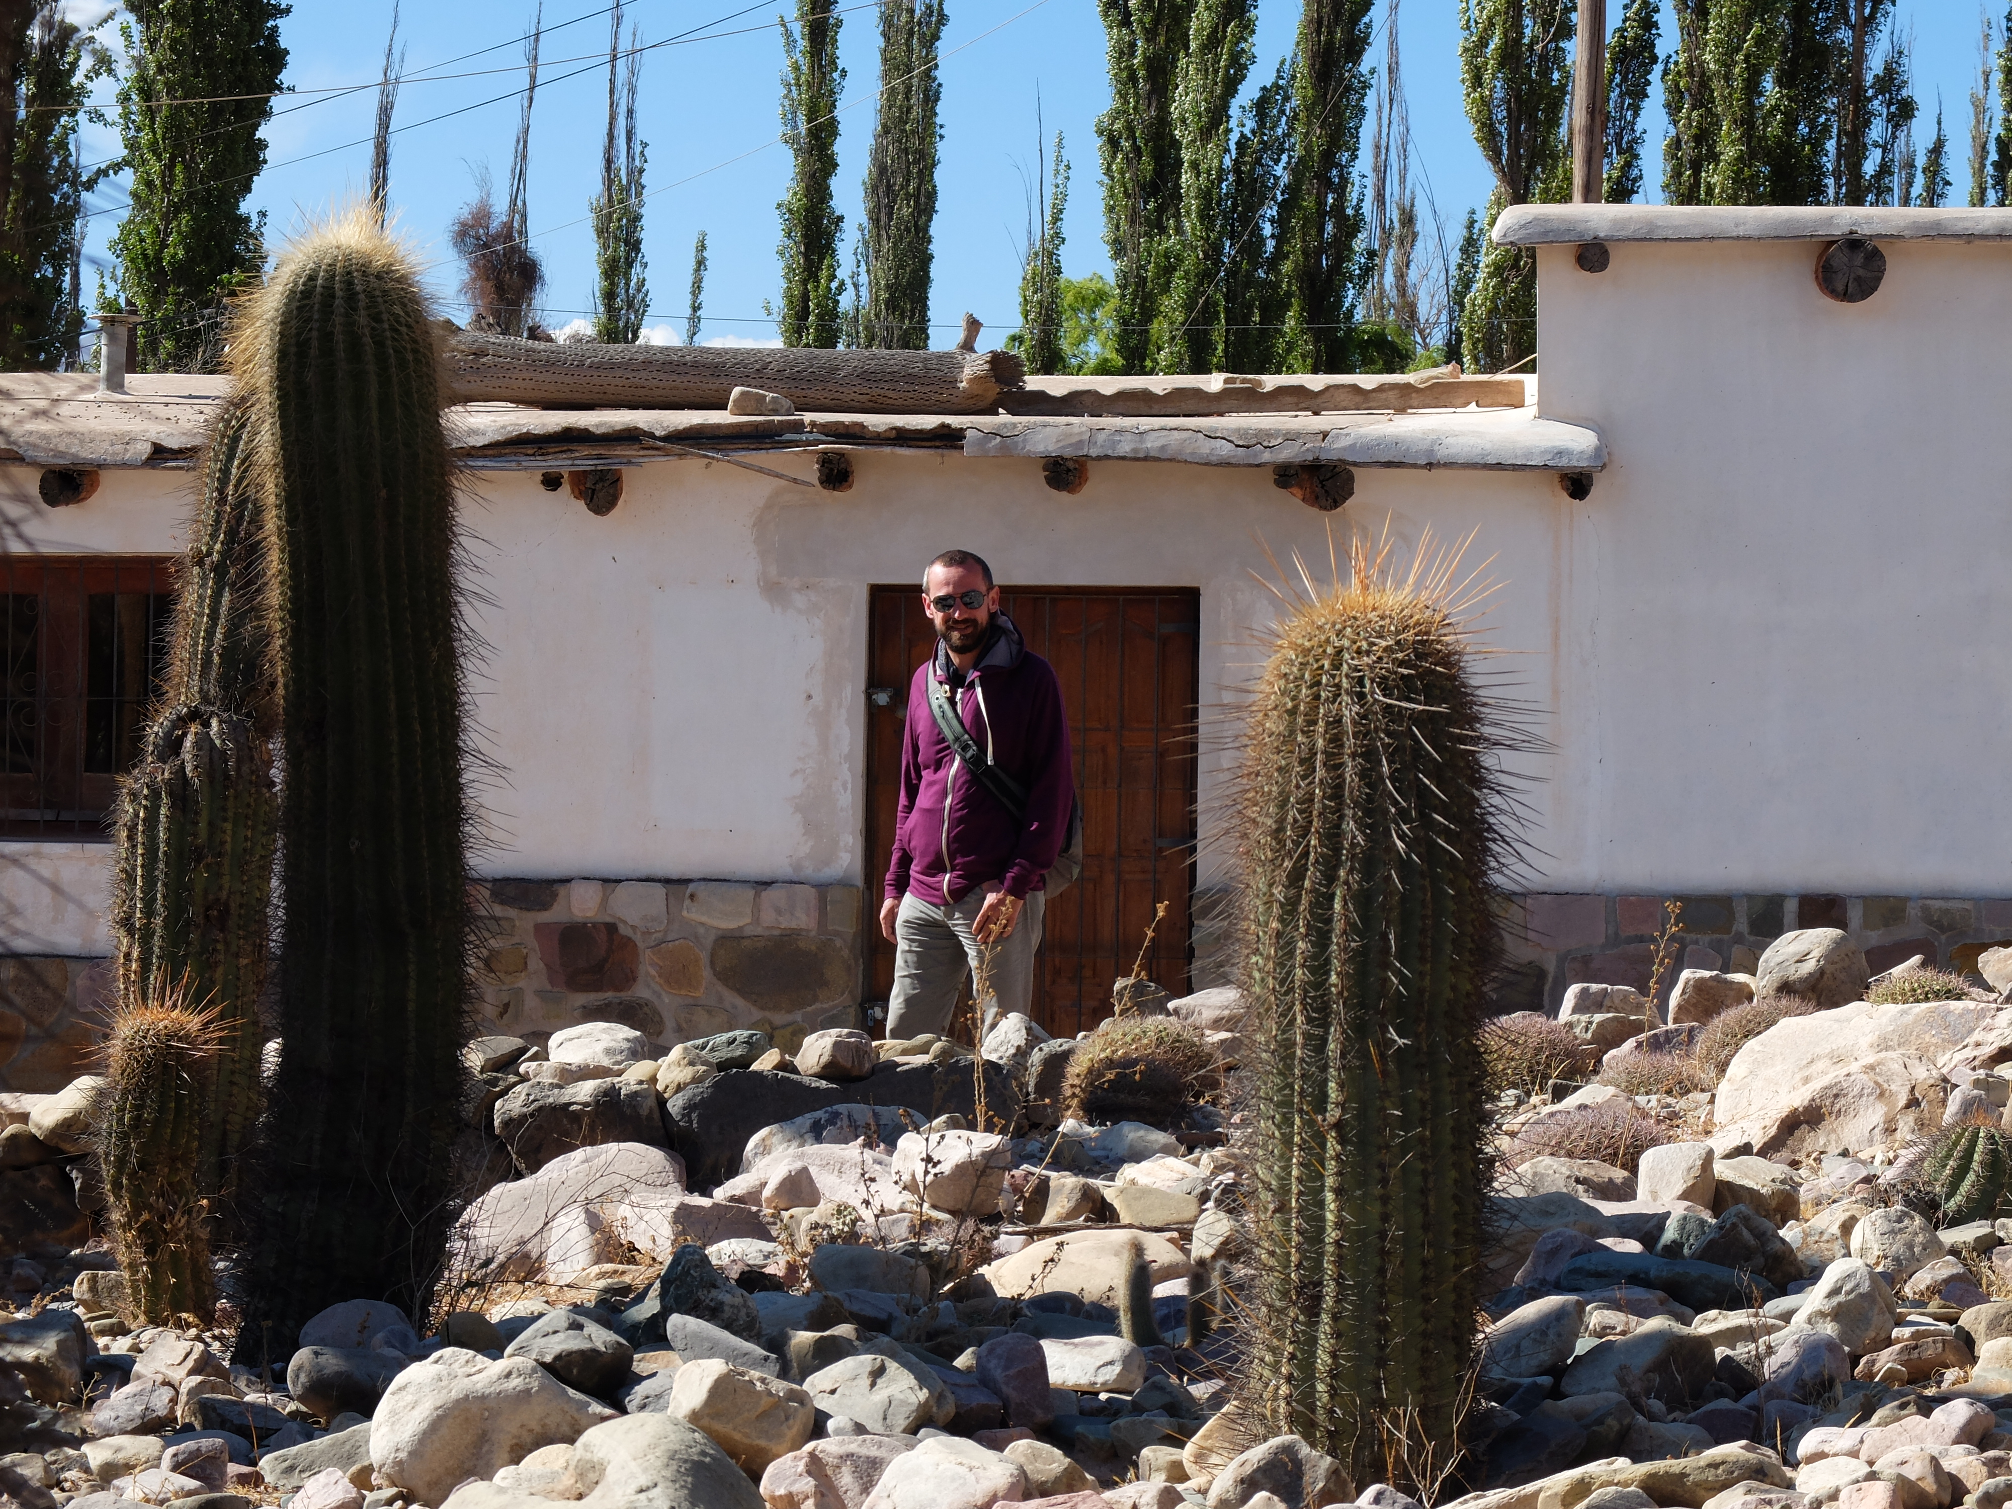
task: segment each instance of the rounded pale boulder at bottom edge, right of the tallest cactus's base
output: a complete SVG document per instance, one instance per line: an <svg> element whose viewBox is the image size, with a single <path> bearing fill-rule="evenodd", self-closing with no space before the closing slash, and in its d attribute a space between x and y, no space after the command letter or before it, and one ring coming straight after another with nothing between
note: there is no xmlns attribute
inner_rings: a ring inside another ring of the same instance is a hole
<svg viewBox="0 0 2012 1509"><path fill-rule="evenodd" d="M529 1358L449 1346L390 1380L370 1420L370 1465L421 1503L447 1503L463 1479L495 1477L612 1418Z"/></svg>

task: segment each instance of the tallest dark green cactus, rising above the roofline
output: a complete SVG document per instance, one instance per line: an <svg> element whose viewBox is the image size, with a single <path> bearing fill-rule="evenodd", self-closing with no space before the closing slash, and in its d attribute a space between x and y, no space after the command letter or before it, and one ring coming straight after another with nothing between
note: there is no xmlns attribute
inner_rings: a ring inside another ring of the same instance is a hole
<svg viewBox="0 0 2012 1509"><path fill-rule="evenodd" d="M280 708L280 1070L239 1346L338 1300L421 1312L469 998L453 471L410 262L360 219L233 328ZM270 1330L268 1330L270 1328Z"/></svg>

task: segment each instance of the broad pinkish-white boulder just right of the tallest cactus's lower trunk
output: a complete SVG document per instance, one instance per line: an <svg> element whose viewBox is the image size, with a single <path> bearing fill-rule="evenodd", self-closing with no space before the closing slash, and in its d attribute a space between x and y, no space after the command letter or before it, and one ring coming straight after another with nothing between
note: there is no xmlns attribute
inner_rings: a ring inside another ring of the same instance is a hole
<svg viewBox="0 0 2012 1509"><path fill-rule="evenodd" d="M771 1231L746 1205L688 1195L676 1153L602 1143L469 1205L449 1235L449 1272L571 1284L596 1264L632 1262L630 1249L670 1262L686 1241L730 1237L767 1241Z"/></svg>

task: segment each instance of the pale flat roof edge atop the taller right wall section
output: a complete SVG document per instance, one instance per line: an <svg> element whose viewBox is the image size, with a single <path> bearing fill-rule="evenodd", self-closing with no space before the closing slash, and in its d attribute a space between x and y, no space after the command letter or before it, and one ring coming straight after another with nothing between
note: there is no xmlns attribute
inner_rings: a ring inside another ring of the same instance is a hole
<svg viewBox="0 0 2012 1509"><path fill-rule="evenodd" d="M2012 241L2012 209L1879 205L1511 205L1497 245L1575 241Z"/></svg>

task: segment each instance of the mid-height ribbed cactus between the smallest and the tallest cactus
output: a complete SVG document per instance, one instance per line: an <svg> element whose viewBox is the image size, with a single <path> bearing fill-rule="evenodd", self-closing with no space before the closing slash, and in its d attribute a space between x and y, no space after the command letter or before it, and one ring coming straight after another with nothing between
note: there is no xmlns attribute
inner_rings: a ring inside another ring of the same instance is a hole
<svg viewBox="0 0 2012 1509"><path fill-rule="evenodd" d="M119 1000L173 990L215 1018L191 1165L213 1215L231 1205L260 1113L274 825L272 771L243 718L183 706L155 720L119 795Z"/></svg>

